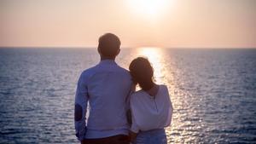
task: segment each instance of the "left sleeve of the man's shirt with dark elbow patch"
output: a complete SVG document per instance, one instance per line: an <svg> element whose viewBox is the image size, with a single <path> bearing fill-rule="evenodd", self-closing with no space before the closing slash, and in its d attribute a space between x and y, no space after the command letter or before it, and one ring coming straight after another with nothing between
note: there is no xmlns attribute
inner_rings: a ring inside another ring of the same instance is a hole
<svg viewBox="0 0 256 144"><path fill-rule="evenodd" d="M74 124L76 136L79 141L84 140L86 134L86 110L88 102L88 90L86 86L86 78L84 72L80 75L77 91L75 95L74 106Z"/></svg>

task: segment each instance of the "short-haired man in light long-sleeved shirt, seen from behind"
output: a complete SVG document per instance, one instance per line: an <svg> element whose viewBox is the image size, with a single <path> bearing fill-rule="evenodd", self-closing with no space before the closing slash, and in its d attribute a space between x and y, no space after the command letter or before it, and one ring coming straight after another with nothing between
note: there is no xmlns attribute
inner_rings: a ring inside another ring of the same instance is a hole
<svg viewBox="0 0 256 144"><path fill-rule="evenodd" d="M106 33L99 38L101 61L80 75L75 96L75 129L81 143L128 144L126 111L131 76L115 63L120 52L119 37ZM89 102L89 118L85 115Z"/></svg>

